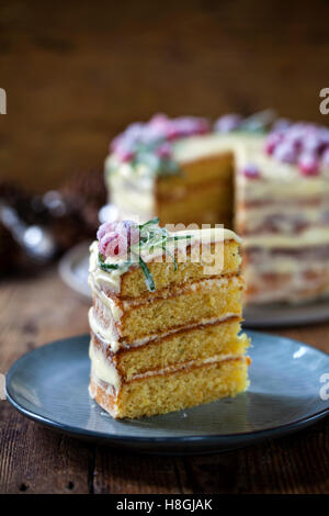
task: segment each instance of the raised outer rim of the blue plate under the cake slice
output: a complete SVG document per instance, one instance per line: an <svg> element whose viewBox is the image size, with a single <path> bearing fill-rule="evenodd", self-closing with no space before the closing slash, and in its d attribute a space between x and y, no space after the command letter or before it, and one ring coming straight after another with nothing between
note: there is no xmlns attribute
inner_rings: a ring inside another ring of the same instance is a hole
<svg viewBox="0 0 329 516"><path fill-rule="evenodd" d="M258 335L266 335L266 337L271 337L275 339L275 335L272 334L265 334L264 332L258 332L258 330L251 330L254 334ZM59 423L54 419L49 419L46 416L43 416L36 412L32 412L29 408L24 407L21 405L14 396L10 393L10 382L12 380L13 374L16 371L16 368L20 366L20 362L26 359L27 356L34 355L35 352L38 352L41 348L45 347L56 347L56 345L66 341L66 340L79 340L81 338L88 338L89 334L81 334L81 335L76 335L72 337L68 338L61 338L54 340L52 343L45 344L43 346L37 347L36 349L33 349L26 354L24 354L22 357L20 357L9 369L9 371L5 374L5 396L9 403L18 410L21 414L24 416L29 417L32 420L35 420L36 423L39 423L44 426L57 429L63 433L67 433L70 435L76 435L76 436L84 436L84 437L91 437L94 439L102 439L102 440L107 440L109 442L115 442L115 441L121 441L121 442L127 442L127 444L177 444L177 445L182 445L182 444L195 444L195 442L208 442L208 444L215 444L225 440L230 440L230 439L246 439L246 444L251 440L259 440L261 438L266 438L266 437L274 437L274 435L285 435L288 434L291 430L297 430L297 429L303 429L304 427L322 419L328 415L329 413L329 403L328 405L321 410L318 411L314 414L310 414L306 417L302 417L299 419L292 420L290 423L279 425L279 426L273 426L271 428L265 428L265 429L259 429L259 430L252 430L252 431L243 431L243 433L235 433L235 434L212 434L212 435L185 435L185 436L125 436L123 434L105 434L102 431L97 431L97 430L90 430L90 429L81 429L80 427L77 426L70 426L65 423ZM329 359L329 354L326 351L322 351L320 349L314 348L313 346L309 346L308 344L302 343L296 339L292 339L290 337L280 337L279 338L285 338L290 341L293 341L294 344L302 345L308 349L310 349L313 352L325 356L327 359ZM111 416L110 416L111 417ZM129 419L134 420L134 419ZM254 437L254 439L252 439Z"/></svg>

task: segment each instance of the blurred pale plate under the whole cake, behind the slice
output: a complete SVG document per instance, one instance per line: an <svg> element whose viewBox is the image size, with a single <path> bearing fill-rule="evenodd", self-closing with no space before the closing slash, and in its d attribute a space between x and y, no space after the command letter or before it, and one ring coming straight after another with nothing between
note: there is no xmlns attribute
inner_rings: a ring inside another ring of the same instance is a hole
<svg viewBox="0 0 329 516"><path fill-rule="evenodd" d="M59 273L65 283L76 292L91 300L88 287L88 260L90 243L72 247L59 262ZM329 300L300 305L260 305L243 310L243 326L250 328L270 328L300 326L329 321Z"/></svg>

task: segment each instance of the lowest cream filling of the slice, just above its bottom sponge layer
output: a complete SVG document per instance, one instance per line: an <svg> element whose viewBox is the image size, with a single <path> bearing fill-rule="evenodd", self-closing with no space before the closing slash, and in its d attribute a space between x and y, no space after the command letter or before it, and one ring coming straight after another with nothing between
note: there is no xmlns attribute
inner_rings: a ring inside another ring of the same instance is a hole
<svg viewBox="0 0 329 516"><path fill-rule="evenodd" d="M111 363L111 361L104 357L104 354L101 350L97 349L92 345L92 343L90 343L90 347L89 347L89 357L92 363L92 371L94 372L94 374L100 380L107 383L109 385L113 385L113 388L117 392L121 388L122 379L115 366L113 366L113 363ZM137 373L132 377L131 381L141 379L141 378L156 377L158 374L166 374L166 373L181 371L184 369L189 369L190 367L194 364L204 366L207 363L222 362L228 359L236 359L236 360L242 361L242 360L246 360L246 357L245 355L232 355L232 354L215 355L214 357L208 357L203 360L190 360L188 362L183 362L180 364L168 366L162 369L146 371L144 373Z"/></svg>

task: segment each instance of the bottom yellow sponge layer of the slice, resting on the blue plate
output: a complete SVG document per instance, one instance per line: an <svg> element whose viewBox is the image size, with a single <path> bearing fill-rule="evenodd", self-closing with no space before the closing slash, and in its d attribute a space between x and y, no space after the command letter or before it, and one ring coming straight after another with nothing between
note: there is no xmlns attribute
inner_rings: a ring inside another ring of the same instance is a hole
<svg viewBox="0 0 329 516"><path fill-rule="evenodd" d="M92 371L90 394L116 418L163 414L245 391L248 364L249 359L245 357L207 362L169 374L135 379L123 384L118 392Z"/></svg>

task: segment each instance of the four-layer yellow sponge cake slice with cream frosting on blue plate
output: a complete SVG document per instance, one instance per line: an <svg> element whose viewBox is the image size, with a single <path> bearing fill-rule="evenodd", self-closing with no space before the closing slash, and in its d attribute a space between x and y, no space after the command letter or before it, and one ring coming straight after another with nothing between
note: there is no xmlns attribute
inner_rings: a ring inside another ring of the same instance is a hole
<svg viewBox="0 0 329 516"><path fill-rule="evenodd" d="M101 226L91 246L90 394L113 417L161 414L248 385L239 239L157 221Z"/></svg>

